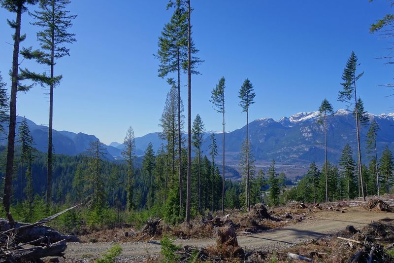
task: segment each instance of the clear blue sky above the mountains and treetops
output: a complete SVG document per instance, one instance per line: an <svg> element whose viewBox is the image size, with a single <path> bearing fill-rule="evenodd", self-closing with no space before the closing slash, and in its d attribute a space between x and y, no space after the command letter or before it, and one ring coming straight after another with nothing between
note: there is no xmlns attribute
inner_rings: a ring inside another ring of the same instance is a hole
<svg viewBox="0 0 394 263"><path fill-rule="evenodd" d="M116 2L116 4L114 4ZM166 0L73 0L77 14L71 29L77 42L71 56L58 61L63 74L55 90L54 128L96 135L109 144L121 142L132 125L136 136L159 131L169 89L157 76L157 40L169 20ZM393 68L375 59L386 54L387 39L369 34L369 25L392 11L389 1L376 0L192 0L193 36L205 62L192 79L192 114L199 113L207 130L221 129L221 116L212 109L212 88L226 77L226 130L245 125L238 90L248 77L256 91L250 119L279 119L316 111L327 99L334 108L341 74L352 50L359 56L359 94L371 113L390 110L394 101L379 87L393 78ZM9 84L12 30L0 10L0 71ZM38 47L36 29L23 15L24 46ZM7 43L8 42L8 43ZM22 67L39 70L31 62ZM186 84L183 77L183 84ZM186 87L182 88L186 108ZM18 94L17 111L37 124L48 124L47 91L40 86Z"/></svg>

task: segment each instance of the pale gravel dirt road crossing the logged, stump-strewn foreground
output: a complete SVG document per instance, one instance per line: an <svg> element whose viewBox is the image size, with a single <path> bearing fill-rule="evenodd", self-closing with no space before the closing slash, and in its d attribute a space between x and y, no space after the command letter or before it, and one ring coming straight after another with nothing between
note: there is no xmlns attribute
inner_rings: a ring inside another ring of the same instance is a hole
<svg viewBox="0 0 394 263"><path fill-rule="evenodd" d="M273 247L291 246L308 239L319 238L330 233L335 233L346 225L354 225L356 228L383 218L393 218L394 213L369 212L362 208L349 208L345 213L322 211L316 214L316 219L289 225L284 228L273 229L267 232L238 236L238 243L244 249L267 249ZM176 240L175 244L182 246L192 245L205 247L215 244L215 239L188 239ZM100 253L111 248L111 243L68 243L66 258L82 259L87 261L97 258ZM138 260L148 255L160 254L158 241L124 243L121 245L124 260Z"/></svg>

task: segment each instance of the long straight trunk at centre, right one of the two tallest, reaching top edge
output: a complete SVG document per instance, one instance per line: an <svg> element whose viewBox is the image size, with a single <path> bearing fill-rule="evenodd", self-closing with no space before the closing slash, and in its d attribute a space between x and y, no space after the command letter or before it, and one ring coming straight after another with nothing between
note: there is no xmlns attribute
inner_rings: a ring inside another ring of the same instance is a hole
<svg viewBox="0 0 394 263"><path fill-rule="evenodd" d="M186 190L186 223L190 222L190 201L192 181L192 27L190 23L190 0L188 0L188 178Z"/></svg>

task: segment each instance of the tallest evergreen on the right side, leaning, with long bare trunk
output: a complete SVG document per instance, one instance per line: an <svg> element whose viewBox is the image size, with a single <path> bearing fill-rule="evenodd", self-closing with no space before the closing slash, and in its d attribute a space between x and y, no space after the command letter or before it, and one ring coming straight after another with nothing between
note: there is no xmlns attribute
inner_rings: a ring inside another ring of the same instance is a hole
<svg viewBox="0 0 394 263"><path fill-rule="evenodd" d="M341 83L341 85L343 86L343 90L339 91L338 101L347 102L349 104L352 104L352 99L354 99L355 109L360 109L359 101L357 100L356 82L357 82L357 80L360 79L360 77L364 73L362 72L361 74L356 76L357 66L359 66L359 64L357 63L357 60L358 60L358 58L357 58L356 54L352 51L352 53L346 63L345 69L343 70L342 80L344 82ZM359 122L360 111L357 110L357 111L355 111L355 113L356 113L357 147L358 147L358 158L359 158L359 166L358 166L359 169L358 170L359 170L359 177L360 177L360 181L361 181L362 198L365 201L364 186L363 186L363 179L362 179L362 169L361 169L362 163L361 163L360 125L359 125L360 124L360 122Z"/></svg>

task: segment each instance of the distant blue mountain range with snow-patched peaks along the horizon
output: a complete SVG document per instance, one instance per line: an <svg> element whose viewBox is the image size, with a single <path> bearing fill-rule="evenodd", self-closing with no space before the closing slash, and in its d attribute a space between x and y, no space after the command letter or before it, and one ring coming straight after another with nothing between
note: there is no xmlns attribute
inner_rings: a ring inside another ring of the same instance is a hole
<svg viewBox="0 0 394 263"><path fill-rule="evenodd" d="M324 131L317 123L318 112L301 112L290 117L282 117L279 120L272 118L260 118L249 123L249 136L251 151L257 163L269 163L275 159L278 163L305 165L312 161L323 163L324 161ZM368 113L370 120L375 119L381 130L378 132L378 155L388 145L394 150L394 113L375 115ZM22 117L17 117L17 126L20 125ZM27 120L32 132L37 150L46 152L48 143L48 127L37 125ZM331 162L339 161L341 151L346 143L356 151L356 129L355 119L351 111L338 110L332 116L328 116L328 159ZM6 124L5 130L6 128ZM18 128L18 127L17 127ZM363 160L367 161L365 149L365 135L368 126L361 127L361 148L363 149ZM209 152L211 143L207 132L202 144L203 154ZM218 149L218 163L221 160L221 148L223 145L222 133L214 132ZM186 136L185 134L183 136ZM246 126L226 132L226 159L229 165L238 164L239 150L246 137ZM53 131L53 144L55 153L74 155L83 153L92 141L99 141L94 135L74 133L69 131ZM152 142L157 151L165 142L159 138L159 132L149 133L135 138L136 154L141 156L144 150ZM1 142L6 144L6 140ZM124 145L113 142L106 146L106 158L108 160L122 159Z"/></svg>

